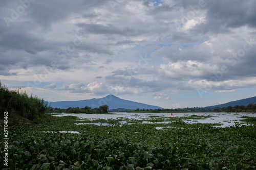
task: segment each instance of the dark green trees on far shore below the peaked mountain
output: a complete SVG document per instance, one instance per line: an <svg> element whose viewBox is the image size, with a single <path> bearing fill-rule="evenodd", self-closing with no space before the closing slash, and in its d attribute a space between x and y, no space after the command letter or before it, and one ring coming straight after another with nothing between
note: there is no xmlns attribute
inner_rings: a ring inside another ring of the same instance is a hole
<svg viewBox="0 0 256 170"><path fill-rule="evenodd" d="M109 106L108 105L102 105L98 108L91 108L91 107L69 107L67 109L60 109L60 108L53 108L49 107L48 112L49 113L108 113Z"/></svg>

